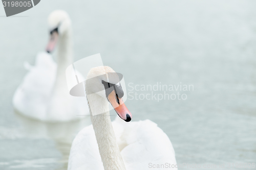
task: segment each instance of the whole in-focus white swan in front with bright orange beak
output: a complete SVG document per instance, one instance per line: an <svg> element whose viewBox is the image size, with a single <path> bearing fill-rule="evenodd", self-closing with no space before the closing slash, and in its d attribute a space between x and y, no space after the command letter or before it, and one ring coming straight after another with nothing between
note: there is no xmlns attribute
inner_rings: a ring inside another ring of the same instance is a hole
<svg viewBox="0 0 256 170"><path fill-rule="evenodd" d="M90 70L87 80L103 75L105 71L115 72L108 66L95 67ZM100 76L86 83L86 94L90 94L87 98L90 103L92 125L82 129L74 139L68 170L142 170L158 166L160 168L155 169L175 166L172 143L155 123L151 120L126 123L131 120L132 114L122 99L118 98L119 95L115 95L116 90L104 90L104 82L114 84L108 79L109 77ZM103 90L103 93L98 92L100 90ZM108 101L116 107L115 111L126 122L117 116L111 123ZM102 114L92 116L92 110ZM177 169L177 165L169 169Z"/></svg>

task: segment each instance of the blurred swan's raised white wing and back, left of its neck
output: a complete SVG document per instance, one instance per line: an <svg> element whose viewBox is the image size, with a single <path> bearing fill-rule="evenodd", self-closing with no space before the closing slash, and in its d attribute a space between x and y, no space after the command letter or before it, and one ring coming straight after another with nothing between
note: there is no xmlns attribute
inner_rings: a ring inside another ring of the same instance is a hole
<svg viewBox="0 0 256 170"><path fill-rule="evenodd" d="M51 55L39 53L36 56L35 65L29 67L29 72L14 93L13 106L17 111L32 118L45 119L56 67Z"/></svg>

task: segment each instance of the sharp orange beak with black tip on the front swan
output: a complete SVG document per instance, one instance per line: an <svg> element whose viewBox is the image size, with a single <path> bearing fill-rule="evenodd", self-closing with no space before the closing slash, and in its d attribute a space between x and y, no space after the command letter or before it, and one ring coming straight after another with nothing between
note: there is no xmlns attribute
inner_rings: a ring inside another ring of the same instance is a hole
<svg viewBox="0 0 256 170"><path fill-rule="evenodd" d="M132 120L132 114L125 106L122 98L118 98L118 96L115 93L115 90L113 90L109 96L108 99L115 109L116 113L121 117L125 122L130 122Z"/></svg>

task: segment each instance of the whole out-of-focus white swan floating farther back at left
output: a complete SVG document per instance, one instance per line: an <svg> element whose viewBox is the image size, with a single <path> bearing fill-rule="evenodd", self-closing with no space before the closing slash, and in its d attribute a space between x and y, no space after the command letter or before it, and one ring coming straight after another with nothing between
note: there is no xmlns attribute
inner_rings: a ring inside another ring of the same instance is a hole
<svg viewBox="0 0 256 170"><path fill-rule="evenodd" d="M13 96L13 106L21 114L47 122L67 122L89 114L86 98L69 94L66 68L73 62L71 20L65 11L53 11L48 18L51 38L47 52L58 46L57 64L46 52L36 56L22 84Z"/></svg>

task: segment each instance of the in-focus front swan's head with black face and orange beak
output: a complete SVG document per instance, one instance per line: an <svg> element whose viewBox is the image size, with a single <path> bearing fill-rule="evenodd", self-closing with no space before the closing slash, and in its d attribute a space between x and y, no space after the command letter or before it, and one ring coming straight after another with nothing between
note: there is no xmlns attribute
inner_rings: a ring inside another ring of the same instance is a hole
<svg viewBox="0 0 256 170"><path fill-rule="evenodd" d="M87 97L89 94L99 95L111 103L119 117L126 122L131 121L132 114L126 108L122 99L124 92L120 84L120 74L116 73L111 67L99 66L89 71L86 81L86 94Z"/></svg>

